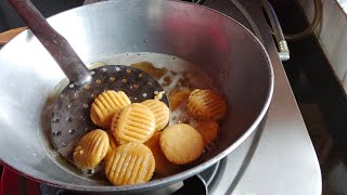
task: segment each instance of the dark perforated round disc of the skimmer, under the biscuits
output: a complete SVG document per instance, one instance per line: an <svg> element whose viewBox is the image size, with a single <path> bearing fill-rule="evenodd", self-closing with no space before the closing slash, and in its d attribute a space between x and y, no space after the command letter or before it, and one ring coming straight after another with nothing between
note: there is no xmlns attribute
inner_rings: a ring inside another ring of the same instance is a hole
<svg viewBox="0 0 347 195"><path fill-rule="evenodd" d="M55 100L52 110L52 142L62 156L73 161L73 151L82 135L97 129L90 119L94 98L106 90L124 91L132 103L154 99L164 91L149 74L124 65L106 65L91 70L83 86L68 84ZM160 100L169 106L166 94Z"/></svg>

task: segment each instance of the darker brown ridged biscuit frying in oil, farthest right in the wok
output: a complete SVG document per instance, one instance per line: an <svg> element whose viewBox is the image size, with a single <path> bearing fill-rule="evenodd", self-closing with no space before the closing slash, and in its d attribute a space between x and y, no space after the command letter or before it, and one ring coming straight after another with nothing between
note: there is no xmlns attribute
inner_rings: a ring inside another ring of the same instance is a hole
<svg viewBox="0 0 347 195"><path fill-rule="evenodd" d="M197 119L220 120L226 115L226 101L213 90L196 89L189 95L187 108Z"/></svg>

